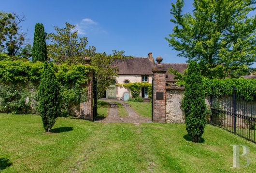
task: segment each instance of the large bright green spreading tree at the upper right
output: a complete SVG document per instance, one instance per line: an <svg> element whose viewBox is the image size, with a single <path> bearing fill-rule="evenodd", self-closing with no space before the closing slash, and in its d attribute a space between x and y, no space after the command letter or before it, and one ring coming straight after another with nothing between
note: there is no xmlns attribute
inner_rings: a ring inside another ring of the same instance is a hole
<svg viewBox="0 0 256 173"><path fill-rule="evenodd" d="M193 14L183 13L184 0L171 4L175 24L169 46L187 62L199 62L209 78L239 77L256 62L255 0L194 0Z"/></svg>

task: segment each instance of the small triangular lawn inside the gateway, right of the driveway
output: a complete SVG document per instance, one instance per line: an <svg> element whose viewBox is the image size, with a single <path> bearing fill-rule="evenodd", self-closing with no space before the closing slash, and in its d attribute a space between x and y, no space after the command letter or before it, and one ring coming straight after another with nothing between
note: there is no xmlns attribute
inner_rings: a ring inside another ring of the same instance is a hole
<svg viewBox="0 0 256 173"><path fill-rule="evenodd" d="M144 102L126 101L139 115L144 117L151 117L152 104Z"/></svg>

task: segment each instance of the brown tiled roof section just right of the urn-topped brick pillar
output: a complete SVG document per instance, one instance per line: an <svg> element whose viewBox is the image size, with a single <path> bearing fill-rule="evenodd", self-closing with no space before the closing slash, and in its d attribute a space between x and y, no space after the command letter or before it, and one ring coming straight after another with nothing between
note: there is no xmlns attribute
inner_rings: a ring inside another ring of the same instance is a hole
<svg viewBox="0 0 256 173"><path fill-rule="evenodd" d="M187 69L188 64L187 63L162 63L165 69L174 69L177 70L180 73L184 73L185 69ZM177 81L176 79L174 79L174 75L170 74L170 73L166 73L167 78L166 78L166 82L175 82Z"/></svg>

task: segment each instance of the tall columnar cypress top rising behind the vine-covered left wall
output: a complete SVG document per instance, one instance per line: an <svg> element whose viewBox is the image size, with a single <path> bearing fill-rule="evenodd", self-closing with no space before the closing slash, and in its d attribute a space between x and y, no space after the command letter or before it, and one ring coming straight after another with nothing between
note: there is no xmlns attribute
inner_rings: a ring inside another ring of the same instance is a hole
<svg viewBox="0 0 256 173"><path fill-rule="evenodd" d="M43 24L35 25L34 42L32 49L32 61L45 62L47 60L47 50Z"/></svg>

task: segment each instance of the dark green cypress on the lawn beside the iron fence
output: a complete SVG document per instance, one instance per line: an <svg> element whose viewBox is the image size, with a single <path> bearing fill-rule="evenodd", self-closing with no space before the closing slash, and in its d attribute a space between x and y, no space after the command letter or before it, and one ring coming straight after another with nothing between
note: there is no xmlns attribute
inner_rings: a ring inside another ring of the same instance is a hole
<svg viewBox="0 0 256 173"><path fill-rule="evenodd" d="M206 124L206 104L201 72L195 61L188 65L184 94L186 130L193 142L199 142Z"/></svg>

